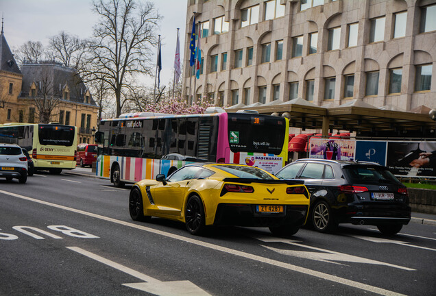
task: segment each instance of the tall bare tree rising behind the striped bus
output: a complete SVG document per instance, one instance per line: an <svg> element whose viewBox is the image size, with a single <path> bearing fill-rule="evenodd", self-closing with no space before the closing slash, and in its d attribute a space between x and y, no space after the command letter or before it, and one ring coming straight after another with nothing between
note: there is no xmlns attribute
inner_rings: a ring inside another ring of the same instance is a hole
<svg viewBox="0 0 436 296"><path fill-rule="evenodd" d="M99 23L94 28L90 58L82 77L87 82L104 79L115 97L116 116L121 114L125 97L134 75L150 75L156 46L155 29L160 15L153 3L138 0L98 0L93 3L99 15Z"/></svg>

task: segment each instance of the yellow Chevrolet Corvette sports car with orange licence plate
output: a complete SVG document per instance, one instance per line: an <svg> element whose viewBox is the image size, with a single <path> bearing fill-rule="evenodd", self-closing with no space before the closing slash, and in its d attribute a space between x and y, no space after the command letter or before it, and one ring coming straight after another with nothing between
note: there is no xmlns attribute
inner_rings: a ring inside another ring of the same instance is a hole
<svg viewBox="0 0 436 296"><path fill-rule="evenodd" d="M208 225L239 225L292 235L306 222L308 206L304 184L242 164L188 164L167 178L134 184L129 198L134 221L181 221L191 234Z"/></svg>

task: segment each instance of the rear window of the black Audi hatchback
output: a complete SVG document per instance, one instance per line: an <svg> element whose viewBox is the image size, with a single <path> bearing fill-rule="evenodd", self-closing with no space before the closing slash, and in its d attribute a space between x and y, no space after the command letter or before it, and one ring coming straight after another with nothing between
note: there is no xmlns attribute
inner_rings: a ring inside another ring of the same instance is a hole
<svg viewBox="0 0 436 296"><path fill-rule="evenodd" d="M352 182L400 182L385 167L348 166L343 168L343 173Z"/></svg>

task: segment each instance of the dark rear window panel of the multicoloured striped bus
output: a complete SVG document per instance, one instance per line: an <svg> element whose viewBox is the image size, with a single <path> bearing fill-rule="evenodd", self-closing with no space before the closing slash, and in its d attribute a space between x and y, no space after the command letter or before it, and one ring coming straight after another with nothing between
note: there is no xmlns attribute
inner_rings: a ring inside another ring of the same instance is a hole
<svg viewBox="0 0 436 296"><path fill-rule="evenodd" d="M278 116L228 114L229 144L232 152L280 154L286 122ZM274 131L274 132L271 132Z"/></svg>

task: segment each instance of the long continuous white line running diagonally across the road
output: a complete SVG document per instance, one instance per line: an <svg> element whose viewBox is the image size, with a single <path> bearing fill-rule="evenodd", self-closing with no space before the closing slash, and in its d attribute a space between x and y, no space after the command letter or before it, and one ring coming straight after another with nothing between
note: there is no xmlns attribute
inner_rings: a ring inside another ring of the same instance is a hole
<svg viewBox="0 0 436 296"><path fill-rule="evenodd" d="M313 277L319 277L319 278L321 278L323 280L329 280L329 281L332 281L332 282L335 282L335 283L338 283L338 284L344 284L346 286L351 286L353 288L359 288L359 289L361 289L363 291L369 291L369 292L377 293L377 294L380 294L380 295L403 295L403 294L400 294L400 293L396 293L396 292L393 292L393 291L386 290L384 288L378 288L376 286L371 286L369 284L363 284L361 282L355 282L353 280L347 280L345 278L338 277L336 275L330 275L328 273L322 273L322 272L319 272L319 271L313 271L311 269L306 269L304 267L298 267L298 266L293 265L293 264L289 264L289 263L285 263L285 262L281 262L281 261L277 261L277 260L273 260L273 259L269 259L269 258L264 258L264 257L261 257L261 256L256 256L254 254L245 253L243 251L237 251L237 250L234 250L234 249L230 249L228 247L221 247L219 245L214 245L212 243L205 243L205 242L202 242L200 240L195 240L193 238L187 238L187 237L184 237L184 236L180 236L178 234L171 234L171 233L168 233L168 232L163 232L161 230L155 230L153 228L145 227L143 225L137 225L137 224L134 224L134 223L125 222L125 221L121 221L121 220L118 220L118 219L113 219L113 218L110 218L110 217L101 216L99 214L94 214L94 213L86 212L86 211L83 211L83 210L77 210L75 208L69 208L69 207L66 207L66 206L60 206L58 204L53 204L53 203L50 203L48 201L41 201L39 199L34 199L32 197L25 197L24 195L19 195L19 194L16 194L16 193L10 193L10 192L4 191L4 190L0 190L0 193L3 193L5 195L10 195L12 197L18 197L18 198L25 199L25 200L28 200L28 201L34 201L34 202L36 202L38 204L44 204L46 206L51 206L53 208L59 208L59 209L62 209L62 210L69 210L71 212L76 212L77 214L84 214L84 215L86 215L88 217L93 217L93 218L101 219L101 220L104 220L104 221L109 221L109 222L112 222L112 223L117 223L119 225L125 225L125 226L128 226L128 227L136 228L138 230L144 230L146 232L151 232L153 234L159 234L161 236L166 236L166 237L173 238L173 239L176 239L176 240L181 240L181 241L184 241L186 243L191 243L193 245L199 245L201 247L207 247L209 249L214 249L215 251L221 251L223 253L232 254L234 256L240 256L240 257L243 257L243 258L246 258L246 259L251 259L251 260L262 262L262 263L265 263L265 264L271 264L273 266L282 267L283 269L288 269L290 271L296 271L296 272L299 272L299 273L304 273L306 275L312 275Z"/></svg>

